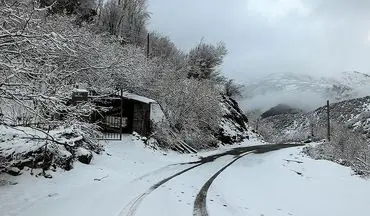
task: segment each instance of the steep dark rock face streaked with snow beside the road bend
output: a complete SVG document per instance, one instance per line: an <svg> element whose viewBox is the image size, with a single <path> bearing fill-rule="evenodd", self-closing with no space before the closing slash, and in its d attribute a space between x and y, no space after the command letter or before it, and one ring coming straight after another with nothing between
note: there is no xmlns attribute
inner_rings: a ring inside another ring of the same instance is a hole
<svg viewBox="0 0 370 216"><path fill-rule="evenodd" d="M240 142L248 138L248 118L239 108L238 103L230 97L223 97L223 118L220 123L220 131L217 138L223 143Z"/></svg>

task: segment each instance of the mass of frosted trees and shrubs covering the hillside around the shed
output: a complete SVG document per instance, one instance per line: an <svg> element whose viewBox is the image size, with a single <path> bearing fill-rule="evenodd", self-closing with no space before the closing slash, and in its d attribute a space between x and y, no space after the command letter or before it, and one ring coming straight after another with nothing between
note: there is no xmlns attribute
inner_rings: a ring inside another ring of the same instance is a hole
<svg viewBox="0 0 370 216"><path fill-rule="evenodd" d="M100 1L96 23L79 26L74 22L79 14L50 14L50 2L1 3L1 124L46 133L48 126L73 126L93 140L97 128L86 120L96 107L69 103L72 90L84 84L98 94L124 89L153 98L164 110L167 129L182 142L194 148L215 142L223 90L214 77L224 45L200 44L186 56L167 37L151 34L147 58L144 0ZM189 79L195 72L202 75Z"/></svg>

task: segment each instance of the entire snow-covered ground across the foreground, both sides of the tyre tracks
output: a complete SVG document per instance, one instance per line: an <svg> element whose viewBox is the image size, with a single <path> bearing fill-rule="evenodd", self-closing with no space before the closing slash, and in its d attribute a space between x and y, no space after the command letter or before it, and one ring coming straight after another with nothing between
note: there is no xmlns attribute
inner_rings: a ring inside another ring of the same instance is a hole
<svg viewBox="0 0 370 216"><path fill-rule="evenodd" d="M349 168L312 160L300 153L302 147L187 163L230 148L180 155L145 148L127 136L109 142L92 164L76 162L71 171L52 173L52 179L29 172L0 176L18 183L0 186L0 215L369 215L370 181L352 176Z"/></svg>

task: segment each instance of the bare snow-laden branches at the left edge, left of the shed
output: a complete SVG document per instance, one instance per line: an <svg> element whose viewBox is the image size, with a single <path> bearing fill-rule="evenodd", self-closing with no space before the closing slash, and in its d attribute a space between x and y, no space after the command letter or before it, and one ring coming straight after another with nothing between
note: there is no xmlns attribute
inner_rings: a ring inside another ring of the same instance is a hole
<svg viewBox="0 0 370 216"><path fill-rule="evenodd" d="M86 41L92 37L72 28L67 18L42 19L49 8L32 1L3 0L0 7L1 123L81 126L94 106L67 106L75 80L108 67L95 65L96 50Z"/></svg>

